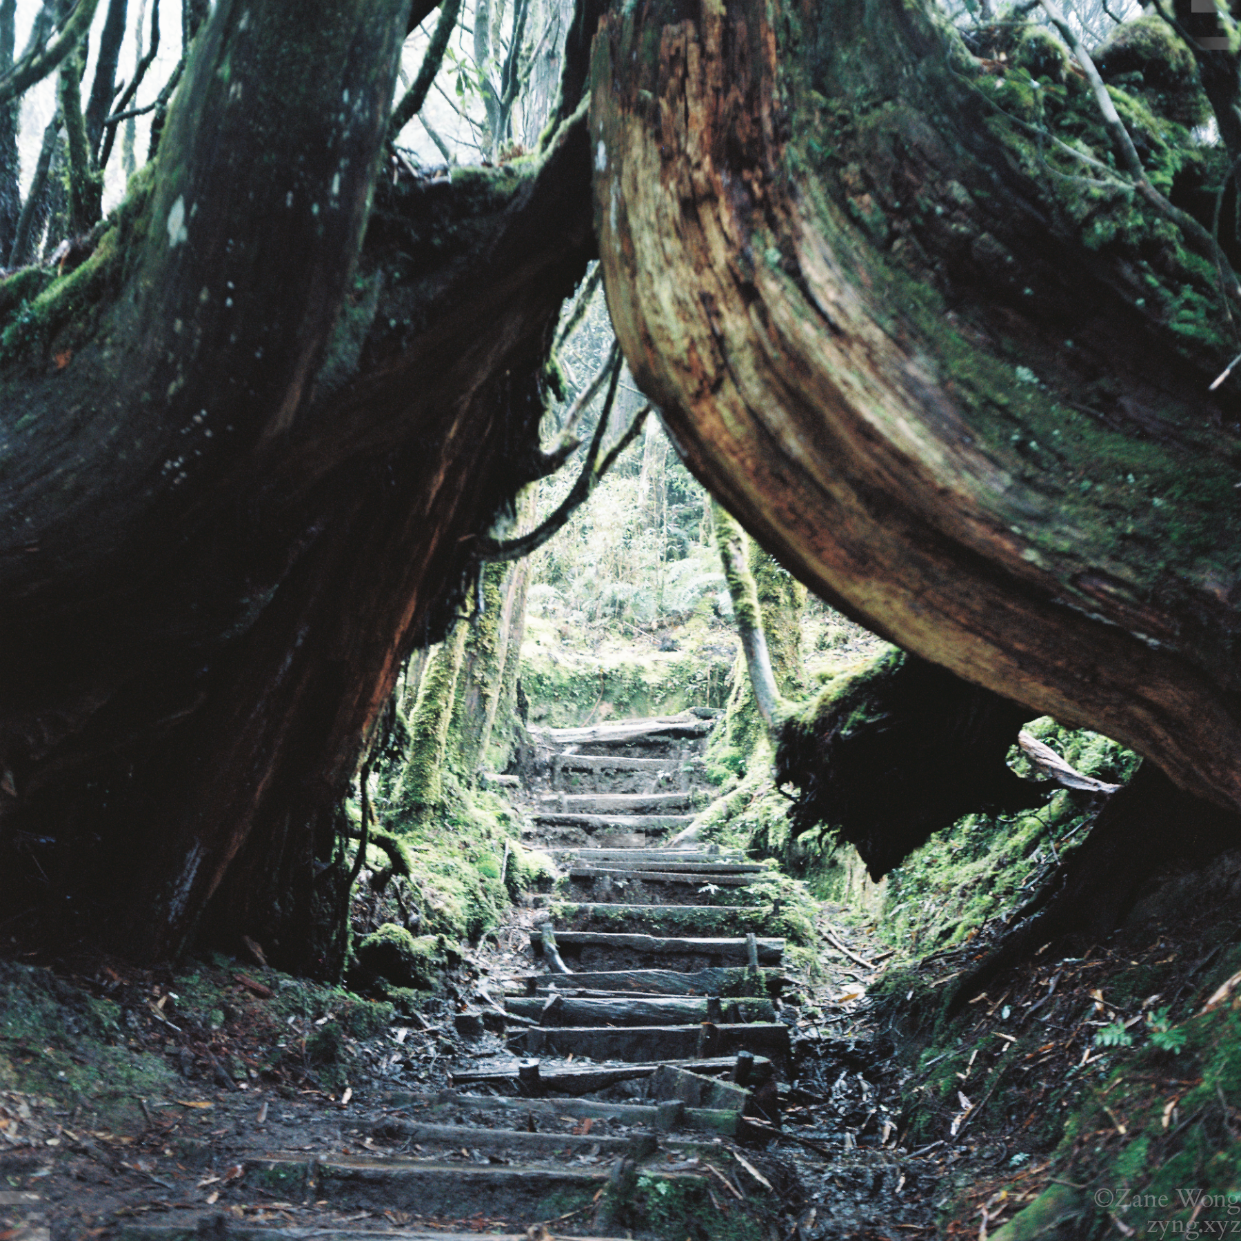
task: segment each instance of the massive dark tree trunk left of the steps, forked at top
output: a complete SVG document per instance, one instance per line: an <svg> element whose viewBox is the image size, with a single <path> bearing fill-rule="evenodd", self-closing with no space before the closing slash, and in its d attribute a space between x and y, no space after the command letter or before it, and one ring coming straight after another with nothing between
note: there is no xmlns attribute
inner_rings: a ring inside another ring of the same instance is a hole
<svg viewBox="0 0 1241 1241"><path fill-rule="evenodd" d="M335 968L338 804L542 469L593 252L581 122L450 185L381 161L410 16L221 0L93 254L0 284L15 930L159 957L206 925Z"/></svg>

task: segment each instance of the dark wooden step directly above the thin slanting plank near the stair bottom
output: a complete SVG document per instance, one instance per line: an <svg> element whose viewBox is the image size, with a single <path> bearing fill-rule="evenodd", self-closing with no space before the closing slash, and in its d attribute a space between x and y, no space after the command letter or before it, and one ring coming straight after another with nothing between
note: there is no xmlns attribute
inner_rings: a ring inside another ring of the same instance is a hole
<svg viewBox="0 0 1241 1241"><path fill-rule="evenodd" d="M783 1021L741 1025L532 1026L509 1037L522 1056L587 1056L591 1060L647 1061L653 1055L694 1060L755 1051L786 1057L792 1050Z"/></svg>

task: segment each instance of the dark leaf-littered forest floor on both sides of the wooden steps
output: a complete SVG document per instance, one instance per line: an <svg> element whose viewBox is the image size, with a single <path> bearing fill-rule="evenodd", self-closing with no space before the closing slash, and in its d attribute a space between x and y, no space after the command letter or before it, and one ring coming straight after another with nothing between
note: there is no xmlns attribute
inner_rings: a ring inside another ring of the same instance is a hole
<svg viewBox="0 0 1241 1241"><path fill-rule="evenodd" d="M1152 1008L1196 1013L1207 1004L1219 967L1235 954L1217 908L1186 911L1175 927L1132 928L1080 957L1035 961L969 1005L942 1047L921 1040L936 1050L921 1057L918 1040L900 1030L892 988L903 987L913 967L923 997L947 994L982 946L917 963L880 962L880 942L835 921L835 912L822 916L814 977L789 972L795 977L786 1005L795 1011L787 1016L802 1041L784 1100L787 1137L767 1145L761 1164L784 1169L772 1237L892 1241L987 1236L988 1229L994 1236L1066 1179L1121 1195L1124 1185L1106 1183L1109 1159L1153 1106L1160 1118L1154 1136L1169 1148L1204 1109L1241 1136L1241 1109L1224 1090L1217 1102L1198 1098L1204 1072L1194 1047L1184 1056L1148 1047L1140 1088L1109 1095L1112 1070L1132 1052L1096 1041L1117 1021L1140 1035L1136 1019ZM499 1040L479 1030L478 1018L494 1010L493 993L505 977L530 968L531 918L515 908L446 979L444 995L410 1016L218 957L175 974L84 954L50 970L0 965L7 993L0 1010L0 1237L38 1241L50 1229L55 1241L105 1239L125 1221L158 1222L204 1207L254 1224L381 1231L408 1224L400 1210L290 1200L247 1170L277 1150L407 1149L391 1127L403 1114L391 1098L434 1093L449 1085L450 1070L496 1054ZM889 998L870 1004L867 989ZM908 999L925 1005L912 993ZM110 1030L92 1025L101 1018ZM1064 1119L1091 1096L1100 1098L1095 1123L1078 1123L1057 1147ZM743 1149L756 1158L753 1148ZM454 1158L463 1168L486 1162L469 1149ZM1103 1180L1076 1180L1087 1165ZM730 1179L733 1191L761 1195L736 1165ZM1207 1204L1196 1220L1205 1227L1231 1219L1230 1210ZM1126 1227L1142 1222L1140 1210L1117 1214ZM1159 1222L1158 1210L1145 1214ZM514 1221L479 1214L455 1222L459 1231L485 1234Z"/></svg>

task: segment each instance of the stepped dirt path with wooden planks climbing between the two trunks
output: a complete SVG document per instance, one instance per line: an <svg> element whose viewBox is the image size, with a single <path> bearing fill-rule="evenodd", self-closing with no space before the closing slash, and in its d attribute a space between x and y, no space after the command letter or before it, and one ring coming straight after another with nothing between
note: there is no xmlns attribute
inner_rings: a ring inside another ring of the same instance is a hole
<svg viewBox="0 0 1241 1241"><path fill-rule="evenodd" d="M546 735L527 792L557 896L515 911L441 1013L356 1040L351 1088L216 1061L129 1137L27 1103L0 1131L0 1239L932 1235L934 1169L901 1147L885 1049L853 1016L874 947L835 931L812 985L755 902L762 866L658 846L709 795L707 726ZM271 1004L258 973L238 988Z"/></svg>

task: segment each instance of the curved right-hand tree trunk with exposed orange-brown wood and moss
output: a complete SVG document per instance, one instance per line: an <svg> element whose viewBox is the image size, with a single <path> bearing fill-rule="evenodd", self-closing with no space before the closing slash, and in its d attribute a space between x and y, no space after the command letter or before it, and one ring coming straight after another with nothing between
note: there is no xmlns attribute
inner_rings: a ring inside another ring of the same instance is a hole
<svg viewBox="0 0 1241 1241"><path fill-rule="evenodd" d="M1236 345L1215 263L1035 135L1119 166L1086 84L928 0L627 5L593 55L608 305L697 477L869 628L1241 807Z"/></svg>

